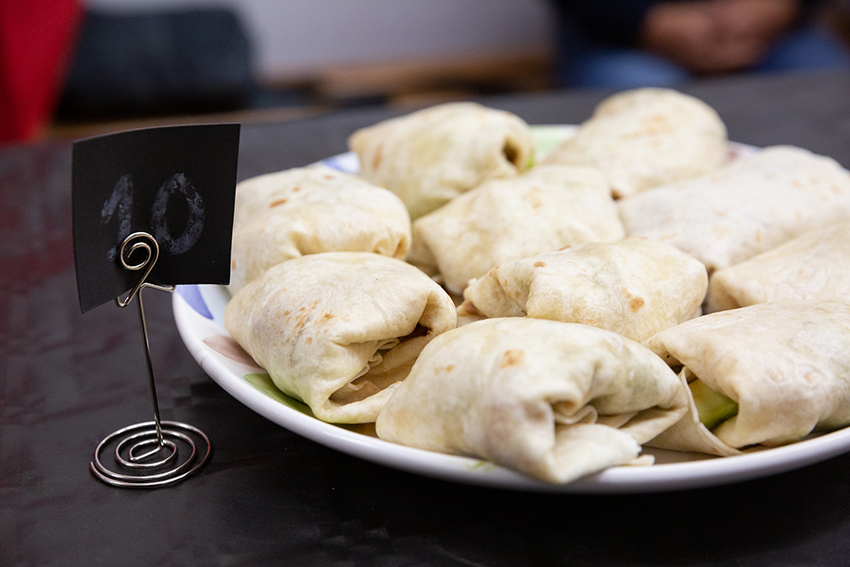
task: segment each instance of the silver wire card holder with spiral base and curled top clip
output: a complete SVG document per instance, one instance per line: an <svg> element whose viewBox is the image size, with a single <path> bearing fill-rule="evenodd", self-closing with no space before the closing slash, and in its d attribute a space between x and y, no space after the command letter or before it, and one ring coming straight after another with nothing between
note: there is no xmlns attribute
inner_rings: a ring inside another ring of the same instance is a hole
<svg viewBox="0 0 850 567"><path fill-rule="evenodd" d="M136 263L136 253L145 257ZM176 421L162 421L156 398L153 365L151 364L148 329L141 291L146 287L173 292L175 286L148 283L146 280L159 258L159 244L147 232L134 232L121 244L121 265L131 271L144 270L127 297L115 299L119 307L127 307L136 299L139 306L139 321L142 325L145 361L148 367L154 420L130 425L106 436L94 451L94 460L89 469L95 477L112 486L123 488L155 488L178 483L197 472L209 460L212 445L209 438L198 428ZM115 462L121 472L107 468L100 455L114 445Z"/></svg>

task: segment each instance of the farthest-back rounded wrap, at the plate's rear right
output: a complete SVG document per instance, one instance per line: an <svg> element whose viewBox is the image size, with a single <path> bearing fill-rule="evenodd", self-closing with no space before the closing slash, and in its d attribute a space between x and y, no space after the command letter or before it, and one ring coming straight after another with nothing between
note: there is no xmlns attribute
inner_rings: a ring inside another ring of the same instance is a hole
<svg viewBox="0 0 850 567"><path fill-rule="evenodd" d="M642 88L602 101L544 163L598 167L619 198L710 173L726 152L726 126L710 106L674 90Z"/></svg>

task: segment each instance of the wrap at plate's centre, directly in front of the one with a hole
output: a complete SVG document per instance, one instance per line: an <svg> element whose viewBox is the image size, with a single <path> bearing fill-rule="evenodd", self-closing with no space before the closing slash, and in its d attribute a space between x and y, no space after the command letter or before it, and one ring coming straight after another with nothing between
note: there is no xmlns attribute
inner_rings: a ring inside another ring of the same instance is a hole
<svg viewBox="0 0 850 567"><path fill-rule="evenodd" d="M500 262L624 236L605 177L596 169L538 166L493 179L413 223L408 260L461 293Z"/></svg>

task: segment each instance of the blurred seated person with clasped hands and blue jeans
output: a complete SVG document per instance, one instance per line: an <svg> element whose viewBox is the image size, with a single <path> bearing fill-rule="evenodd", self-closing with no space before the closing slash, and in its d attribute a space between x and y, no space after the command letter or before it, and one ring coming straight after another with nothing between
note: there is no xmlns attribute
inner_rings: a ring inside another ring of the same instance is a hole
<svg viewBox="0 0 850 567"><path fill-rule="evenodd" d="M817 0L552 0L562 86L673 87L741 71L850 69Z"/></svg>

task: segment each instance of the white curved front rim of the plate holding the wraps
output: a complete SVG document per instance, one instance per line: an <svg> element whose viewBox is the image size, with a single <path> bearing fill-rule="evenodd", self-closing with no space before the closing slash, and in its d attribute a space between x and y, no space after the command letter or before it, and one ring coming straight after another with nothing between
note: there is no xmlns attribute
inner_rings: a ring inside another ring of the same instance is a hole
<svg viewBox="0 0 850 567"><path fill-rule="evenodd" d="M221 288L182 285L179 287ZM209 304L208 304L209 305ZM464 484L533 492L650 493L731 484L801 468L850 450L850 428L840 429L782 447L732 457L660 463L652 466L616 466L567 484L553 484L527 477L472 457L447 455L406 447L350 431L303 414L274 400L226 366L224 355L203 342L203 327L214 327L221 336L226 329L205 321L180 293L173 294L177 329L186 348L201 368L228 394L256 413L289 431L328 448L409 473ZM233 364L239 364L234 362ZM246 374L251 367L245 366ZM687 454L684 454L687 455Z"/></svg>

